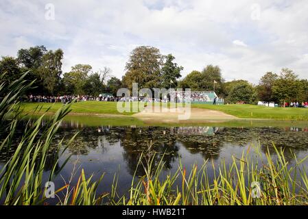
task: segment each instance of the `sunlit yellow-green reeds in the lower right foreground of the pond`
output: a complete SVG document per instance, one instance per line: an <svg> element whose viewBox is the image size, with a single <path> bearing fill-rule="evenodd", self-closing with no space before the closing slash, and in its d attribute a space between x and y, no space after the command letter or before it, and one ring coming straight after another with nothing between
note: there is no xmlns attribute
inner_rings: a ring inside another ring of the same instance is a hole
<svg viewBox="0 0 308 219"><path fill-rule="evenodd" d="M274 148L274 157L270 151L265 160L257 151L259 146L250 146L241 157L232 157L233 162L219 166L209 160L198 168L194 165L190 172L182 166L174 174L160 179L163 162L152 169L153 158L144 165L145 176L132 184L130 196L122 197L124 205L307 205L308 180L303 162L294 159L291 165L284 157L283 149ZM252 152L253 151L253 152ZM250 153L259 157L250 156ZM155 155L153 155L154 157ZM252 157L252 158L251 158ZM207 168L212 166L215 174L209 179ZM299 175L299 177L298 177ZM298 177L298 179L297 179ZM181 183L177 183L181 181ZM254 196L252 184L261 185L259 196Z"/></svg>

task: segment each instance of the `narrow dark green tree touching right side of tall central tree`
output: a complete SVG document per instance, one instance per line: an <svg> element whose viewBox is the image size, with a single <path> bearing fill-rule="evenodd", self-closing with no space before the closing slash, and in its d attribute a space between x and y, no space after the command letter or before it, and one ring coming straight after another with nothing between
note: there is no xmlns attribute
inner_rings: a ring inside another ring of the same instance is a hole
<svg viewBox="0 0 308 219"><path fill-rule="evenodd" d="M161 87L166 89L175 88L178 86L176 80L181 77L180 71L183 70L183 67L173 62L176 57L171 54L165 55L163 58L165 62L161 68Z"/></svg>

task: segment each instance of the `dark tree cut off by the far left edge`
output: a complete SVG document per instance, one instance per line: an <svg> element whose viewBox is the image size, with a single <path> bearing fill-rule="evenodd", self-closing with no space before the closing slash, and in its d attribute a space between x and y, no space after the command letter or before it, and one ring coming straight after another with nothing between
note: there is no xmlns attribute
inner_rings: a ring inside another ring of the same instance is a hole
<svg viewBox="0 0 308 219"><path fill-rule="evenodd" d="M0 73L5 74L3 80L10 84L20 77L21 69L14 57L3 56L0 60ZM2 83L3 81L0 81Z"/></svg>

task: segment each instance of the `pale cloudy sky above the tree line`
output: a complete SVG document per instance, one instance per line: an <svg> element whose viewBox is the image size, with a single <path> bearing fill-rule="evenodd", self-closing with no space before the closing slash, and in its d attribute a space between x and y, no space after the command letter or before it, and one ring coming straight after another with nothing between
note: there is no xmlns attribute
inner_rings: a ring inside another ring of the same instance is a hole
<svg viewBox="0 0 308 219"><path fill-rule="evenodd" d="M0 0L0 55L43 44L63 70L91 64L121 77L139 45L172 53L182 76L219 65L227 80L267 71L308 75L307 0Z"/></svg>

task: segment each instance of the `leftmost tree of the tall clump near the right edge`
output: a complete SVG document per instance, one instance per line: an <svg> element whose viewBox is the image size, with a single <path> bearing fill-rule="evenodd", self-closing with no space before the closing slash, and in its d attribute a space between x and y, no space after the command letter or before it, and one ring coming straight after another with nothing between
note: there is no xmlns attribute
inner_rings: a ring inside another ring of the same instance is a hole
<svg viewBox="0 0 308 219"><path fill-rule="evenodd" d="M265 101L267 103L277 101L275 96L272 94L272 88L277 79L278 75L272 72L265 73L265 75L261 77L259 85L257 86L258 96L261 101Z"/></svg>

